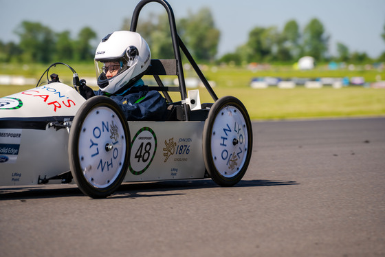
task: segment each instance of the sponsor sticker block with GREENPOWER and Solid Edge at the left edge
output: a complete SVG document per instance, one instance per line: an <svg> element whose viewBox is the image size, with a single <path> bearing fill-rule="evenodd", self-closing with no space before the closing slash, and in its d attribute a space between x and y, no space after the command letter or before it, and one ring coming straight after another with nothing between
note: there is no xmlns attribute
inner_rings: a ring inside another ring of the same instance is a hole
<svg viewBox="0 0 385 257"><path fill-rule="evenodd" d="M0 129L0 164L14 164L19 156L21 129Z"/></svg>

